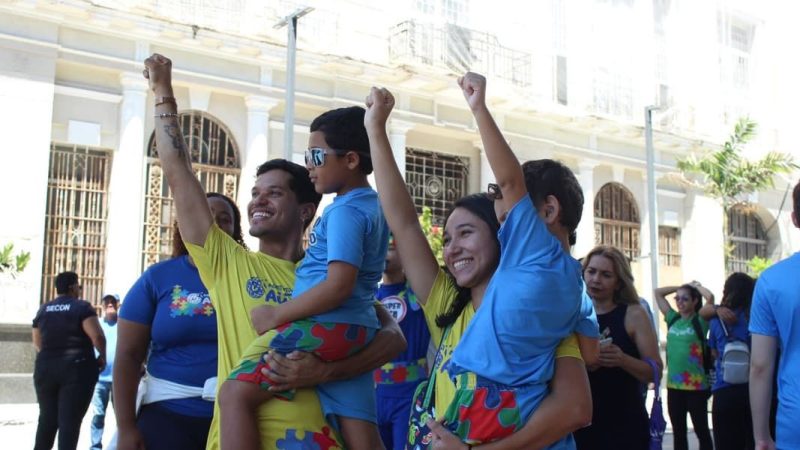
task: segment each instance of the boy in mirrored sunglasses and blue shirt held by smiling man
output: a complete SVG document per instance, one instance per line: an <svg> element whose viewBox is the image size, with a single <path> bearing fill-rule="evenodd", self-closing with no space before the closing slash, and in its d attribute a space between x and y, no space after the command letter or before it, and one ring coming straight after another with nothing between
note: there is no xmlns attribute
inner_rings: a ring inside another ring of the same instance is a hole
<svg viewBox="0 0 800 450"><path fill-rule="evenodd" d="M292 300L251 313L261 336L245 349L220 389L223 448L259 448L256 408L273 395L293 396L269 390L276 384L262 370L269 369L264 362L269 351L309 351L336 361L364 348L380 328L375 290L389 228L378 194L367 180L372 161L364 117L364 108L353 106L328 111L311 123L306 150L309 176L317 192L336 197L309 235ZM339 428L347 448L381 446L372 374L325 383L317 390L323 413Z"/></svg>

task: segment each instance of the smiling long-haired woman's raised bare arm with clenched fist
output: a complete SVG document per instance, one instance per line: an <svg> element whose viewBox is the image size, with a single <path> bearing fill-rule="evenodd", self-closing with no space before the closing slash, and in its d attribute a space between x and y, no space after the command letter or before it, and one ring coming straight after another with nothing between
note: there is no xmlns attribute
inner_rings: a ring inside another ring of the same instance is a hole
<svg viewBox="0 0 800 450"><path fill-rule="evenodd" d="M403 262L403 270L423 305L428 300L433 282L439 273L436 257L422 233L414 202L389 145L386 120L394 107L394 96L386 89L373 87L367 96L364 126L369 136L375 184L386 223L394 235L395 246Z"/></svg>

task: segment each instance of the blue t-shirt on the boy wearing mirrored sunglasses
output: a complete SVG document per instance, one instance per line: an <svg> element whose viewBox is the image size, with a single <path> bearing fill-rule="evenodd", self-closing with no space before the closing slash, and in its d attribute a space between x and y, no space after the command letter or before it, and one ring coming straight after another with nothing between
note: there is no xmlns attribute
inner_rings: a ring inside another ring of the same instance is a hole
<svg viewBox="0 0 800 450"><path fill-rule="evenodd" d="M345 262L358 267L352 295L338 308L310 319L380 328L373 303L386 264L388 244L389 227L377 192L365 187L337 195L308 237L308 249L297 268L292 297L297 298L324 281L331 262Z"/></svg>

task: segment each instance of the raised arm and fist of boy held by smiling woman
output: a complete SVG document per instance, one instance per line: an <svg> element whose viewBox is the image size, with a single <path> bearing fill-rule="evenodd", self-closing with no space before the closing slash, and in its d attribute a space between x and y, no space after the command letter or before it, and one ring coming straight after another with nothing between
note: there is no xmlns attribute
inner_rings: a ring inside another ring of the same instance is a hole
<svg viewBox="0 0 800 450"><path fill-rule="evenodd" d="M467 72L458 79L458 85L472 110L472 115L475 116L489 166L503 194L503 205L509 211L522 197L528 195L528 191L522 167L486 106L486 78L477 73Z"/></svg>

